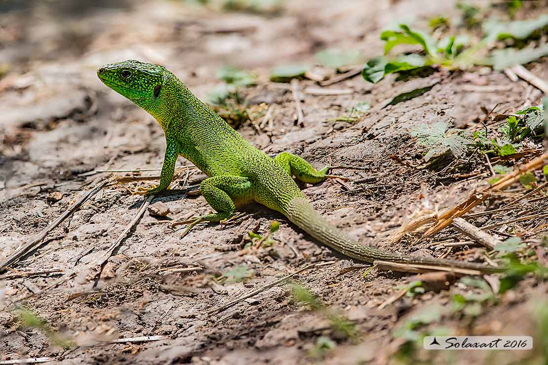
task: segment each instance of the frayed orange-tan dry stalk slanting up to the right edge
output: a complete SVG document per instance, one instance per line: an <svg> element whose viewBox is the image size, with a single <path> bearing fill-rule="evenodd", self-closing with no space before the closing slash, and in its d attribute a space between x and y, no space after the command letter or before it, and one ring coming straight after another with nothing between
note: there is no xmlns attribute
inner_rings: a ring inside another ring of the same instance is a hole
<svg viewBox="0 0 548 365"><path fill-rule="evenodd" d="M473 207L480 202L486 200L491 192L504 190L510 187L513 183L518 181L520 175L525 172L535 171L542 169L544 165L548 163L548 153L543 153L539 157L530 160L528 163L518 167L511 173L505 175L493 186L479 190L479 192L473 192L468 199L461 202L458 205L448 209L442 215L438 217L437 223L430 227L423 235L423 239L429 237L435 233L438 233L443 228L448 227L455 218L463 216L466 212L470 211Z"/></svg>

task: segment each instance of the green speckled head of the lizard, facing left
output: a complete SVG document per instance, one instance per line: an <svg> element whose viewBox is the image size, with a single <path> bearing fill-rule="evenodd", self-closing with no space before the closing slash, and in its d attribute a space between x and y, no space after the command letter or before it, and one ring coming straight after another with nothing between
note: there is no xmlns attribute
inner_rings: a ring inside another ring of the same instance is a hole
<svg viewBox="0 0 548 365"><path fill-rule="evenodd" d="M109 63L97 69L97 76L105 85L144 109L160 95L164 74L163 66L135 60Z"/></svg>

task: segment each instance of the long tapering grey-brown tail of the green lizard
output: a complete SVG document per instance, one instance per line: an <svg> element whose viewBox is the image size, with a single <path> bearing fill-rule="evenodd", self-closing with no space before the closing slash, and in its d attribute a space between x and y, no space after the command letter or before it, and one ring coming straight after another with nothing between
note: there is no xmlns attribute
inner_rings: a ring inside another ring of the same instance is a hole
<svg viewBox="0 0 548 365"><path fill-rule="evenodd" d="M328 223L304 198L293 198L287 206L286 216L290 221L298 225L299 228L306 231L306 233L310 234L324 245L333 248L333 250L338 251L345 256L361 261L373 263L375 260L381 260L405 264L446 266L449 268L480 270L484 272L500 270L493 266L485 266L478 263L419 256L404 256L359 244L359 242L344 235L338 228L334 227L334 225Z"/></svg>

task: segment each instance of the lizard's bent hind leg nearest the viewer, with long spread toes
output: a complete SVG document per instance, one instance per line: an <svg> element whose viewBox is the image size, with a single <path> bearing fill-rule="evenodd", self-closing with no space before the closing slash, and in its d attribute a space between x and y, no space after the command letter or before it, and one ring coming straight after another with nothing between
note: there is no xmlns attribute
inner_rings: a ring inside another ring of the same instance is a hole
<svg viewBox="0 0 548 365"><path fill-rule="evenodd" d="M190 223L181 234L184 237L196 224L201 222L224 223L236 213L236 204L253 199L252 184L246 177L219 175L205 179L200 184L200 192L216 213L191 218L186 221L174 222L172 227Z"/></svg>

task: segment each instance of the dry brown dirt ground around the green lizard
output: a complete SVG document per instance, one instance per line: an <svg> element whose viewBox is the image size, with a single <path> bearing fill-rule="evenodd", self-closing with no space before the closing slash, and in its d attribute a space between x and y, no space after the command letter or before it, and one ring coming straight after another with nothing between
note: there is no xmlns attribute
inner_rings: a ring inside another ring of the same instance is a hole
<svg viewBox="0 0 548 365"><path fill-rule="evenodd" d="M418 244L409 237L391 244L387 234L413 214L441 209L485 186L489 168L482 163L471 171L416 169L413 166L421 161L423 149L416 146L409 130L436 121L452 121L458 128L473 130L495 107L496 114L503 114L538 105L540 90L523 80L507 88L511 82L504 73L482 67L438 71L408 81L396 81L392 75L378 84L367 83L358 74L324 88L351 90L341 95L306 92L319 86L304 79L299 83L304 90L301 126L295 123L289 84L268 79L272 67L313 62L314 54L325 48L357 49L365 59L379 55L383 51L379 32L391 21L413 15L420 23L432 16L456 14L454 5L318 0L287 2L279 13L254 14L182 1L3 2L0 258L31 240L80 194L110 176L96 171L161 167L165 140L156 121L96 77L96 67L127 59L166 66L202 98L221 84L216 76L221 66L252 70L259 82L244 92L255 103L266 103L272 114L267 128L256 130L249 122L239 126L244 137L269 154L290 151L317 167L362 167L335 170L354 182L329 179L306 186L304 194L318 211L363 244L406 254L441 255L445 250L435 242L454 235L451 228ZM546 58L527 68L548 79ZM469 86L478 78L494 91L471 91ZM432 84L420 97L385 107L402 92ZM371 109L357 123L328 121L363 101ZM190 166L182 158L178 164ZM208 212L201 196L176 192L200 176L196 170L181 170L172 183L174 193L154 199L152 206L163 203L173 219ZM156 181L106 187L8 271L6 275L12 276L4 276L0 287L0 361L24 357L49 357L50 363L62 364L545 361L539 355L543 339L538 337L548 326L538 319L539 310L548 303L545 282L529 277L483 303L475 315L446 311L454 293L473 291L463 283L403 296L379 309L412 280L411 274L373 269L364 275L368 267L362 263L318 245L279 213L256 205L245 207L250 216L233 224L202 225L182 239L181 226L172 228L170 221L147 210L95 280L96 260L105 257L144 200L128 189L152 183ZM520 187L513 189L504 197L520 196ZM476 211L500 204L490 199ZM547 201L535 204L542 209ZM503 215L505 219L519 216L517 208ZM489 219L472 222L487 225ZM273 234L270 247L243 248L248 231L265 235L273 220L281 222L281 228ZM546 225L536 228L545 223L546 218L518 222L491 233L505 239L519 230L532 231L530 239L539 239ZM463 236L454 240L466 241ZM483 262L485 252L485 248L464 246L454 248L448 257ZM328 264L303 271L293 281L315 294L323 310L299 303L284 283L210 312L317 260ZM169 273L169 268L197 269ZM247 279L227 280L226 273L235 268L247 269ZM50 269L62 271L15 275ZM51 287L72 272L75 275ZM23 326L15 308L42 318L47 329ZM406 343L394 335L395 329L413 314L440 308L439 318L424 328L450 334L532 335L538 346L535 343L532 351L406 352ZM349 338L337 333L328 311L349 318L356 334ZM162 339L100 343L154 335ZM318 344L325 338L335 347L321 352ZM62 341L73 344L63 347Z"/></svg>

